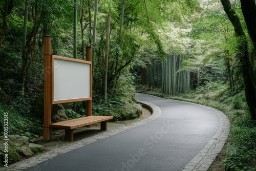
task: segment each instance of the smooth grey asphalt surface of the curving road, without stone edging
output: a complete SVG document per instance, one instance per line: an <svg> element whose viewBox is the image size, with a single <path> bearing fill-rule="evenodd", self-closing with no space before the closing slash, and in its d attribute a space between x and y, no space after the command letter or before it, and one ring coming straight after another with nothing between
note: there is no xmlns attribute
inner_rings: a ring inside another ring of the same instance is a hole
<svg viewBox="0 0 256 171"><path fill-rule="evenodd" d="M162 114L26 170L182 170L218 130L215 112L196 104L138 94Z"/></svg>

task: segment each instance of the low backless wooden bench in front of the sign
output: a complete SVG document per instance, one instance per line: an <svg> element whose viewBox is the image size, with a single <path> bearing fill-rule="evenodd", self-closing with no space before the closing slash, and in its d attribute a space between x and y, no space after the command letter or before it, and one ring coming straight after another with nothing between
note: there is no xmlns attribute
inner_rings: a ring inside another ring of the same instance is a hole
<svg viewBox="0 0 256 171"><path fill-rule="evenodd" d="M65 129L65 141L73 141L73 130L86 126L91 125L97 122L100 122L100 130L106 131L107 129L107 121L113 119L113 116L87 116L84 118L66 120L62 122L52 123L50 127L56 127L58 129Z"/></svg>

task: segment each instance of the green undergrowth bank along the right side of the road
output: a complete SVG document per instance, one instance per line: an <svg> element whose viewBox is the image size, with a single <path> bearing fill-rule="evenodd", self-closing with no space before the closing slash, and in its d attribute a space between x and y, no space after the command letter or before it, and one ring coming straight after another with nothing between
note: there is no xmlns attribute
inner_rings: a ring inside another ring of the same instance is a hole
<svg viewBox="0 0 256 171"><path fill-rule="evenodd" d="M203 104L225 113L230 121L230 133L220 154L224 157L209 170L256 170L256 122L250 120L242 90L230 91L220 83L211 82L189 94L168 96L160 89L143 93Z"/></svg>

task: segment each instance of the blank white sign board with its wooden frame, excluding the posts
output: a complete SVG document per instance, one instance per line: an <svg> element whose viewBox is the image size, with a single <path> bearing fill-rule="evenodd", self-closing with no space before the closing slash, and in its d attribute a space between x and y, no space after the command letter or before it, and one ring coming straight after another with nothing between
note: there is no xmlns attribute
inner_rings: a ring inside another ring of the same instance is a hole
<svg viewBox="0 0 256 171"><path fill-rule="evenodd" d="M53 101L90 98L89 63L53 58Z"/></svg>

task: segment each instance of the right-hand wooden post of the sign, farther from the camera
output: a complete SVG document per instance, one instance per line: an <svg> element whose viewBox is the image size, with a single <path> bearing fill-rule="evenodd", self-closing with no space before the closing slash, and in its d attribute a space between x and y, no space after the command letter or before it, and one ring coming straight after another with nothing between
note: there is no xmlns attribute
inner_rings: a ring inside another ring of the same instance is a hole
<svg viewBox="0 0 256 171"><path fill-rule="evenodd" d="M92 61L92 47L86 47L86 60ZM92 80L92 66L90 69L90 97L92 97L92 85L93 85L93 80ZM93 105L93 100L87 100L86 101L86 116L92 116L92 107ZM92 125L88 125L87 127L92 127Z"/></svg>

